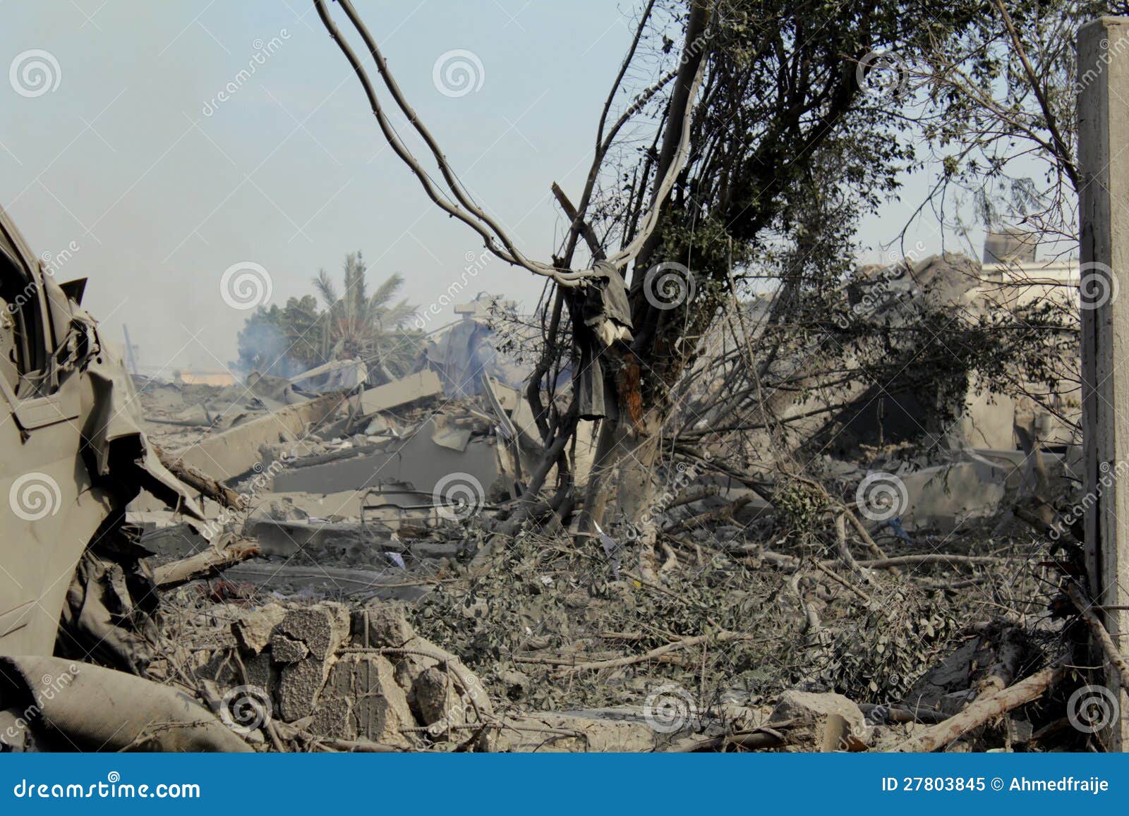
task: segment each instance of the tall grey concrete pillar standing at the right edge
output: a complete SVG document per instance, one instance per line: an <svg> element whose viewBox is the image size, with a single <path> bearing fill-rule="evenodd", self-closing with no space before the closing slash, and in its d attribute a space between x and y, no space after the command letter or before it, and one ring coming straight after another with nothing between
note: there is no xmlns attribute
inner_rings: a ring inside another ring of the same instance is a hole
<svg viewBox="0 0 1129 816"><path fill-rule="evenodd" d="M1122 653L1129 648L1129 18L1103 17L1078 32L1078 158L1082 169L1080 301L1083 436L1091 587ZM1129 703L1100 735L1129 748Z"/></svg>

